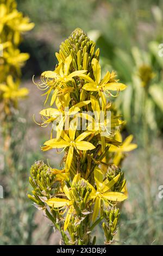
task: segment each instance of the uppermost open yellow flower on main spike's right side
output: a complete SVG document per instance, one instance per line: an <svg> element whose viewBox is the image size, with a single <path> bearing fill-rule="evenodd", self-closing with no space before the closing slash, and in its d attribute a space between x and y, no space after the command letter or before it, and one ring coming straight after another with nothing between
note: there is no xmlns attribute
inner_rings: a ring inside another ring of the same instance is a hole
<svg viewBox="0 0 163 256"><path fill-rule="evenodd" d="M104 105L106 105L106 100L103 92L120 91L126 89L126 85L123 83L118 83L116 80L112 82L110 72L106 72L103 80L101 80L101 66L97 59L92 59L92 68L95 81L91 77L83 74L80 78L83 78L87 83L84 84L83 89L91 92L98 92L99 96L102 97ZM111 80L111 81L110 81ZM110 94L111 95L111 94Z"/></svg>

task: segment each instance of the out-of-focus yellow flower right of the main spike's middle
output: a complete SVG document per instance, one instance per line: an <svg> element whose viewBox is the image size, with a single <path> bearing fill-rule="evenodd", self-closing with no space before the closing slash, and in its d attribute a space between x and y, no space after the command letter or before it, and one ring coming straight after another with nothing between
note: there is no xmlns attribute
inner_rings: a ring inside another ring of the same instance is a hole
<svg viewBox="0 0 163 256"><path fill-rule="evenodd" d="M117 141L122 142L122 136L120 132L118 132L115 137ZM123 159L125 152L129 152L137 148L137 144L131 143L132 140L133 135L129 135L122 142L122 145L118 147L116 147L115 145L110 145L109 151L115 153L113 163L116 164L116 166L118 166L118 164L121 162L121 159Z"/></svg>

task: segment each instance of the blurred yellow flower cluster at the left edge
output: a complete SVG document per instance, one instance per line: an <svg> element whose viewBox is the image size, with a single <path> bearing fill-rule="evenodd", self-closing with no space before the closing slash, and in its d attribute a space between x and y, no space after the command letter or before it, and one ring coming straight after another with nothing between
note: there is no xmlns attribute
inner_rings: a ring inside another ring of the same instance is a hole
<svg viewBox="0 0 163 256"><path fill-rule="evenodd" d="M20 88L21 67L29 58L28 53L21 53L18 46L21 34L34 27L28 17L17 9L15 0L1 0L0 3L0 100L5 112L10 112L10 105L16 107L17 100L28 94L27 88Z"/></svg>

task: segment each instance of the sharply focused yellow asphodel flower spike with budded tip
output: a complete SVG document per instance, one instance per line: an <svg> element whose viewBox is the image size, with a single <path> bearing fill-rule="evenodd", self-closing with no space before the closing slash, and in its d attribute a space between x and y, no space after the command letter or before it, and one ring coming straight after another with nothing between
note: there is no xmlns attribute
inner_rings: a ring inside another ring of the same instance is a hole
<svg viewBox="0 0 163 256"><path fill-rule="evenodd" d="M99 49L82 29L62 42L55 55L57 68L43 72L37 84L48 89L47 99L56 105L40 111L43 124L53 124L42 150L62 149L65 155L61 170L49 167L47 180L40 179L45 164L41 173L37 163L32 167L34 192L29 197L59 229L65 245L94 245L96 237L90 234L102 220L104 242L110 244L120 215L117 203L127 198L127 188L123 172L111 164L123 147L115 136L123 121L107 97L111 91L118 96L126 86L114 72L101 79Z"/></svg>

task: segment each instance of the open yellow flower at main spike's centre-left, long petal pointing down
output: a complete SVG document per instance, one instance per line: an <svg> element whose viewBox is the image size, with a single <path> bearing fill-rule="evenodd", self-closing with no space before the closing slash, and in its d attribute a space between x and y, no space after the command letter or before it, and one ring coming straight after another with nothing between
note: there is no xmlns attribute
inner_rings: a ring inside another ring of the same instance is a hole
<svg viewBox="0 0 163 256"><path fill-rule="evenodd" d="M95 149L95 146L93 144L91 144L90 142L83 141L83 139L86 138L87 136L89 136L92 132L91 131L85 131L75 139L76 129L77 129L77 126L75 128L70 127L70 129L68 130L69 137L66 135L66 133L64 131L62 131L62 133L61 133L62 139L57 139L57 138L50 139L49 141L46 141L44 143L45 147L42 147L43 151L49 150L49 149L52 149L52 148L59 149L59 148L69 147L67 158L66 158L66 163L65 163L66 164L66 166L65 166L66 172L71 167L74 148L77 151L78 150L92 150L92 149Z"/></svg>

